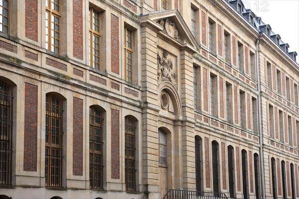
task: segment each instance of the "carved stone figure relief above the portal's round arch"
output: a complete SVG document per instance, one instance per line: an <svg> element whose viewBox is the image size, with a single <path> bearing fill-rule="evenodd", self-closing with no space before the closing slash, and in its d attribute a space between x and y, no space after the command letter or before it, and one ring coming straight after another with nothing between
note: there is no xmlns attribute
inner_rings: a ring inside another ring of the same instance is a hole
<svg viewBox="0 0 299 199"><path fill-rule="evenodd" d="M168 53L163 52L162 58L157 54L157 77L158 81L169 81L176 86L176 74L172 70L172 61L167 59Z"/></svg>

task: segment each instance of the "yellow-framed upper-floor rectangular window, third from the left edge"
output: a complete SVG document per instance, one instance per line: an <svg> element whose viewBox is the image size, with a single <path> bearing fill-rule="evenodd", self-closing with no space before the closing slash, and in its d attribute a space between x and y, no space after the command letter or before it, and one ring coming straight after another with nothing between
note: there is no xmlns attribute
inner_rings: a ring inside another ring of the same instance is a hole
<svg viewBox="0 0 299 199"><path fill-rule="evenodd" d="M89 8L89 66L100 69L100 12Z"/></svg>

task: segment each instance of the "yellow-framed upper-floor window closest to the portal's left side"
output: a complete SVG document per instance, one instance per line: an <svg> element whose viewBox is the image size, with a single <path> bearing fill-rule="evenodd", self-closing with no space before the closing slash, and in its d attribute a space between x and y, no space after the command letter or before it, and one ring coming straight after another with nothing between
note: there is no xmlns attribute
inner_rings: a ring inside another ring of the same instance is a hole
<svg viewBox="0 0 299 199"><path fill-rule="evenodd" d="M125 41L125 53L126 53L126 80L132 83L133 80L133 46L132 37L133 33L130 29L125 28L126 41Z"/></svg>

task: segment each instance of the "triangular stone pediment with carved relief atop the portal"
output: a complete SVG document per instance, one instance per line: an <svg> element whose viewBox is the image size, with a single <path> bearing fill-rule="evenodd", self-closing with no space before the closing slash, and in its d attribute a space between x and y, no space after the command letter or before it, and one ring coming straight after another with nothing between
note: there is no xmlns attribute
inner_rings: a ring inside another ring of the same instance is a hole
<svg viewBox="0 0 299 199"><path fill-rule="evenodd" d="M176 9L150 12L141 16L141 22L154 27L159 32L166 33L184 46L189 46L194 50L200 48L183 17Z"/></svg>

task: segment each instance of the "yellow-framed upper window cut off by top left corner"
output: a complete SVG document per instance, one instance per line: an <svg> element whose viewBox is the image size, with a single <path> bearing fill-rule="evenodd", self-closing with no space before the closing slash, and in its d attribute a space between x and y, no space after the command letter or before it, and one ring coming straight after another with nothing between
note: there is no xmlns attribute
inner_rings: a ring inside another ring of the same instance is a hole
<svg viewBox="0 0 299 199"><path fill-rule="evenodd" d="M0 32L8 33L9 0L0 0Z"/></svg>

